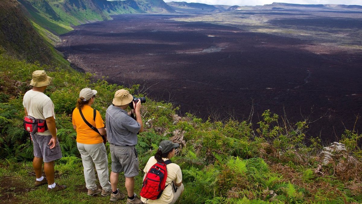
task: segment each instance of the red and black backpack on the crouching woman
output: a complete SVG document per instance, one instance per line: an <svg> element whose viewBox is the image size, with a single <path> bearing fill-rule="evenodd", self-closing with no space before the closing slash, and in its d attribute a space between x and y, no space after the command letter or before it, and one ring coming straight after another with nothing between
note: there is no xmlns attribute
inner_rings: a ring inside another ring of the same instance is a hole
<svg viewBox="0 0 362 204"><path fill-rule="evenodd" d="M165 186L167 179L166 165L171 163L171 160L166 160L164 163L157 162L153 164L143 180L140 196L147 200L156 200L161 197L163 190L168 185Z"/></svg>

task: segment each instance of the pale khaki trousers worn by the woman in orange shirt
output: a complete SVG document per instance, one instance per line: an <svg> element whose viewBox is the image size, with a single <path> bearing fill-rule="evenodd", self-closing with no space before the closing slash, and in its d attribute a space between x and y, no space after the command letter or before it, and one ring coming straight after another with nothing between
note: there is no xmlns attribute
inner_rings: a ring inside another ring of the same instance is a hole
<svg viewBox="0 0 362 204"><path fill-rule="evenodd" d="M85 186L88 189L97 189L94 163L102 189L106 191L112 189L109 183L108 158L104 144L82 144L77 142L77 147L83 162Z"/></svg>

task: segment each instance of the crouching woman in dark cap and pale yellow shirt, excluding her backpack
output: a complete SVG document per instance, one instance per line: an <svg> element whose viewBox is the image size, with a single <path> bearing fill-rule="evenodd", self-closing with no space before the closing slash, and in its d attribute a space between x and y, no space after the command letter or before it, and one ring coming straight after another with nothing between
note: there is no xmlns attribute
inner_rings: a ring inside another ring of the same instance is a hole
<svg viewBox="0 0 362 204"><path fill-rule="evenodd" d="M150 159L148 159L146 167L144 167L143 169L143 172L145 172L143 179L146 177L147 172L154 164L156 164L157 162L164 163L166 160L171 159L175 155L175 148L177 148L178 146L180 146L178 143L173 143L170 140L163 140L162 142L160 142L159 149L157 150L155 156L152 156ZM166 165L166 168L166 187L161 194L161 197L156 200L150 200L141 196L141 200L143 203L173 204L176 202L178 197L180 197L182 191L184 191L184 184L182 184L182 172L180 166L174 163L170 163Z"/></svg>

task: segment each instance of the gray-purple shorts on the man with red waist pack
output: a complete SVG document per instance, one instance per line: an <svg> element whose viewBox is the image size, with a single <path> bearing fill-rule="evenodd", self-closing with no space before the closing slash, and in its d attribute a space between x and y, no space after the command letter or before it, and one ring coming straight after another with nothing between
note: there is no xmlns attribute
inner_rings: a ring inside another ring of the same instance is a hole
<svg viewBox="0 0 362 204"><path fill-rule="evenodd" d="M33 138L34 156L43 158L44 162L51 162L62 158L62 150L60 150L58 138L56 138L56 145L54 148L49 148L52 144L48 145L51 135L31 135Z"/></svg>

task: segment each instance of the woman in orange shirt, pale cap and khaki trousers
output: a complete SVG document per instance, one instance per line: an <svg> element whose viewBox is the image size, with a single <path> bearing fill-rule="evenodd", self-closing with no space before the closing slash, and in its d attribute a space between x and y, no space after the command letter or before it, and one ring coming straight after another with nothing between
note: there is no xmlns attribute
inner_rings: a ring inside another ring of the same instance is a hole
<svg viewBox="0 0 362 204"><path fill-rule="evenodd" d="M96 90L89 88L80 91L76 108L73 110L72 123L77 132L77 147L83 162L87 194L94 196L101 193L102 196L108 196L112 193L112 188L109 183L108 157L102 138L102 135L106 134L106 129L101 114L95 111L94 115L94 110L91 107L96 94ZM82 118L81 113L84 118ZM94 128L90 128L84 120ZM93 164L96 166L102 190L97 189Z"/></svg>

